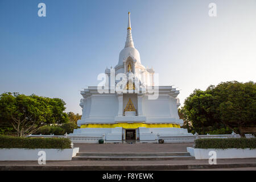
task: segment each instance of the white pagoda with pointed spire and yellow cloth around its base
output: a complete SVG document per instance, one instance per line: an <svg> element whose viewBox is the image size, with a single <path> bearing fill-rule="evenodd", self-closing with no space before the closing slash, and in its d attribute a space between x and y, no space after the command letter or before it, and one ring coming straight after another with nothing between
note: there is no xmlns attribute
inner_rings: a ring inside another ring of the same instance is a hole
<svg viewBox="0 0 256 182"><path fill-rule="evenodd" d="M125 48L119 53L118 64L106 68L104 85L81 91L80 129L69 135L102 136L106 143L155 142L159 137L191 135L180 127L183 120L177 113L179 90L158 86L154 69L141 64L128 14Z"/></svg>

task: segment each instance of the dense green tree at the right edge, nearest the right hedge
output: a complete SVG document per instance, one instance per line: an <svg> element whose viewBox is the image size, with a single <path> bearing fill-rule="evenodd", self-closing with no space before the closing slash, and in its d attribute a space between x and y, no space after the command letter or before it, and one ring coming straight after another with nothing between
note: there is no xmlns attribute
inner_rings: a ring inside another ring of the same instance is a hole
<svg viewBox="0 0 256 182"><path fill-rule="evenodd" d="M221 82L214 89L208 89L216 102L214 109L226 127L240 134L242 127L256 126L256 84L252 81Z"/></svg>

